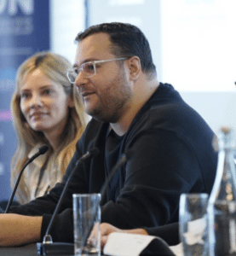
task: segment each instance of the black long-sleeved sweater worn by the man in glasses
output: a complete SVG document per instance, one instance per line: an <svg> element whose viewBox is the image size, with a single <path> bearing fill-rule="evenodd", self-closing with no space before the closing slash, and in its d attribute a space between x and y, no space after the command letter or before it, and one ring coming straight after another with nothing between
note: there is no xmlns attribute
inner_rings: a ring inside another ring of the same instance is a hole
<svg viewBox="0 0 236 256"><path fill-rule="evenodd" d="M72 177L51 230L54 241L73 241L72 194L100 192L106 176L105 162L110 162L105 160L108 129L108 123L91 119L62 183L57 183L49 195L11 207L10 212L43 215L43 238L76 161L97 147L100 154L85 160ZM121 229L177 222L181 193L210 193L212 189L217 162L211 146L213 136L204 119L170 84L160 84L119 142L118 159L128 148L132 148L133 155L114 177L108 198L101 202L101 221Z"/></svg>

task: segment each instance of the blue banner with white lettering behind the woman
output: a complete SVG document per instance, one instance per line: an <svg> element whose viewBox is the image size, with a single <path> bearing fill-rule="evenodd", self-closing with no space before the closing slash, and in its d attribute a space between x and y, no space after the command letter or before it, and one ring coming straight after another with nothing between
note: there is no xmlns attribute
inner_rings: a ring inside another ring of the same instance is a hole
<svg viewBox="0 0 236 256"><path fill-rule="evenodd" d="M49 49L49 0L0 0L0 201L8 200L10 161L17 145L10 100L15 73L37 51Z"/></svg>

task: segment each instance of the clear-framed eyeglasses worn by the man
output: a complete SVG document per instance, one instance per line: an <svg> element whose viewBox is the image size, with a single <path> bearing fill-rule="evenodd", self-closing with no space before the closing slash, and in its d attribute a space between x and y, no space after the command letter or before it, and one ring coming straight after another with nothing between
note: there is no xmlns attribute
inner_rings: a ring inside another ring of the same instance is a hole
<svg viewBox="0 0 236 256"><path fill-rule="evenodd" d="M75 84L75 80L80 72L83 72L85 78L89 79L96 74L96 64L105 63L109 61L123 61L127 60L129 57L123 57L118 59L102 60L102 61L88 61L84 62L80 67L75 70L67 70L67 78L72 84Z"/></svg>

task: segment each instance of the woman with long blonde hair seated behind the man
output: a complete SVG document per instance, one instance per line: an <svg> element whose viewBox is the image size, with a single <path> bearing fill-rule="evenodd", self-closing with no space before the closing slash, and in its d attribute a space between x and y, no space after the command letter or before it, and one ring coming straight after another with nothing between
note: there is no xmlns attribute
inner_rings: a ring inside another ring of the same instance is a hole
<svg viewBox="0 0 236 256"><path fill-rule="evenodd" d="M11 185L26 161L49 145L24 171L16 195L20 204L44 195L60 182L84 127L83 104L66 71L72 65L50 52L33 55L16 74L11 102L18 147L11 163Z"/></svg>

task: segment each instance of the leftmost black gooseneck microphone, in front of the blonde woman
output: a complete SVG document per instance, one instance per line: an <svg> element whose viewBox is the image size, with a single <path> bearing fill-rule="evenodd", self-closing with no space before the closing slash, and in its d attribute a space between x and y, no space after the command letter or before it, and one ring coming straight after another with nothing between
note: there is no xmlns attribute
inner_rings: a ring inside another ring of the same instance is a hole
<svg viewBox="0 0 236 256"><path fill-rule="evenodd" d="M20 177L22 176L22 173L24 172L24 170L26 169L26 166L28 166L33 160L35 160L40 154L45 154L47 151L49 150L49 146L48 145L43 145L41 146L40 148L38 148L38 152L36 154L34 154L29 160L26 161L26 164L25 166L23 166L23 168L21 169L20 171L20 174L16 180L16 183L14 184L14 189L13 189L13 192L11 194L11 197L9 199L9 203L8 203L8 206L6 207L6 210L4 213L8 213L9 212L9 208L12 204L12 201L14 199L14 194L15 194L15 191L16 189L18 188L18 185L20 183Z"/></svg>

